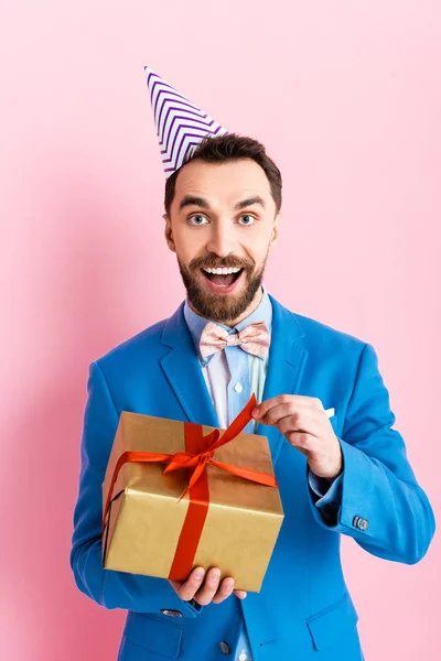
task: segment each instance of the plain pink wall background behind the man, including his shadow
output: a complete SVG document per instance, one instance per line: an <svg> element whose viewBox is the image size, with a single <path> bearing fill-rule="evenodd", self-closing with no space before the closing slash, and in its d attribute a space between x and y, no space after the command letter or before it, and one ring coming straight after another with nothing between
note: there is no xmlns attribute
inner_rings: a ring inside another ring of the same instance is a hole
<svg viewBox="0 0 441 661"><path fill-rule="evenodd" d="M267 286L374 344L439 511L438 0L3 0L0 22L0 657L116 657L123 613L68 553L88 364L183 297L144 64L267 144ZM411 567L344 556L367 660L438 659L438 540Z"/></svg>

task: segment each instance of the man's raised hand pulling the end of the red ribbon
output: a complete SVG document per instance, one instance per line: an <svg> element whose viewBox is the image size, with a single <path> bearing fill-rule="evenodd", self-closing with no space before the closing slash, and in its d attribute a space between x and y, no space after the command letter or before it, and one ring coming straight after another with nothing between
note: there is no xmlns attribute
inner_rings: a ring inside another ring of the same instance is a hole
<svg viewBox="0 0 441 661"><path fill-rule="evenodd" d="M318 477L332 481L342 473L342 448L320 399L281 394L256 407L252 418L276 426L306 455L308 465Z"/></svg>

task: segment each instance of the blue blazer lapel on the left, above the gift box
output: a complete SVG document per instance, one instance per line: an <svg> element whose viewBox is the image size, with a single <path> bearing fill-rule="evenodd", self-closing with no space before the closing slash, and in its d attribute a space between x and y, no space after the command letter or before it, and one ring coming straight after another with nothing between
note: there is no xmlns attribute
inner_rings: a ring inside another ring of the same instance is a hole
<svg viewBox="0 0 441 661"><path fill-rule="evenodd" d="M170 347L161 367L189 422L218 426L218 420L183 314L182 303L166 322L161 343Z"/></svg>

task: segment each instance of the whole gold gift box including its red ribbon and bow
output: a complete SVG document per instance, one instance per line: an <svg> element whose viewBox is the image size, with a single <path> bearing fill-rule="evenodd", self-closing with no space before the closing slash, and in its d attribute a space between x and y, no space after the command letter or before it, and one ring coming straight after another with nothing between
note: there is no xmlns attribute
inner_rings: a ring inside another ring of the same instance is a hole
<svg viewBox="0 0 441 661"><path fill-rule="evenodd" d="M259 592L283 510L266 436L123 411L103 484L107 570L185 581L219 567Z"/></svg>

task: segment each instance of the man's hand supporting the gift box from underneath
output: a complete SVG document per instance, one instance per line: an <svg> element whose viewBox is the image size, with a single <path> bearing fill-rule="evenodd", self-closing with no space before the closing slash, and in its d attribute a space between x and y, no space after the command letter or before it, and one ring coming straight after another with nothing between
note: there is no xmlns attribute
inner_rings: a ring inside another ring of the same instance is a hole
<svg viewBox="0 0 441 661"><path fill-rule="evenodd" d="M196 567L183 583L180 581L170 581L170 583L183 602L194 599L201 606L220 604L220 602L225 602L233 593L239 599L245 599L247 596L246 592L234 589L233 578L224 578L220 585L219 581L220 570L213 567L205 576L205 571L202 567Z"/></svg>

